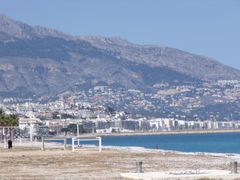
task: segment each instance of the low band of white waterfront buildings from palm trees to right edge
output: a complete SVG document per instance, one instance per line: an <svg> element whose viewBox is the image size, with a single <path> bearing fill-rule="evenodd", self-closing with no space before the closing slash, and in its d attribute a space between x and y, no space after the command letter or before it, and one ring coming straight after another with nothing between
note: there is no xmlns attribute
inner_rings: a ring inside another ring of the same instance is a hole
<svg viewBox="0 0 240 180"><path fill-rule="evenodd" d="M43 132L61 134L62 129L69 125L81 126L84 132L114 133L139 131L172 131L172 130L200 130L200 129L237 129L240 121L183 121L171 118L156 119L56 119L42 121L35 117L20 118L19 128L33 136ZM45 130L43 130L45 128Z"/></svg>

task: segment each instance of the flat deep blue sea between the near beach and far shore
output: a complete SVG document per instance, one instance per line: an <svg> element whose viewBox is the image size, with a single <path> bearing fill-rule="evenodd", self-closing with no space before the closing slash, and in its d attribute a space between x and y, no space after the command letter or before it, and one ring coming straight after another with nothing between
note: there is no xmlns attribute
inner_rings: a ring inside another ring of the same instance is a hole
<svg viewBox="0 0 240 180"><path fill-rule="evenodd" d="M70 144L70 139L68 140ZM81 142L81 144L94 144ZM240 153L240 133L105 136L103 146L134 146L181 152Z"/></svg>

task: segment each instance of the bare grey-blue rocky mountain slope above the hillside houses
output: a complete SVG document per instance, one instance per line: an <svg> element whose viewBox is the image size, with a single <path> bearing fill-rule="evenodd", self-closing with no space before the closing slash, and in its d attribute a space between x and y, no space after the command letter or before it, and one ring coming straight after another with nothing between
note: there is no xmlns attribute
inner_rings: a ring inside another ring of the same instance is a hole
<svg viewBox="0 0 240 180"><path fill-rule="evenodd" d="M0 96L55 96L96 85L152 91L162 82L240 80L240 71L178 49L74 37L0 15Z"/></svg>

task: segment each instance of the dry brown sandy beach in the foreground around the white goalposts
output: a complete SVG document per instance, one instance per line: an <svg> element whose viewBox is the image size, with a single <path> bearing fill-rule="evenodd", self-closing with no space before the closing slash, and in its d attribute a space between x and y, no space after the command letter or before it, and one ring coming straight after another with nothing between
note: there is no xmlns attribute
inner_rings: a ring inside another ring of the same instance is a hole
<svg viewBox="0 0 240 180"><path fill-rule="evenodd" d="M81 147L72 152L49 143L0 148L0 179L125 179L122 173L135 173L143 162L145 173L160 171L229 170L237 155L177 153L143 148ZM50 148L51 147L51 148ZM55 148L54 148L55 147Z"/></svg>

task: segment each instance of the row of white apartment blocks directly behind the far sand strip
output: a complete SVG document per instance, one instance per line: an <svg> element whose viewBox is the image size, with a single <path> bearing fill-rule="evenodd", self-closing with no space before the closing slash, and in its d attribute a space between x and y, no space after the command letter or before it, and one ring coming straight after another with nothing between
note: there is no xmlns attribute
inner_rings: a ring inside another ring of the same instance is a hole
<svg viewBox="0 0 240 180"><path fill-rule="evenodd" d="M97 122L96 131L107 132L106 122ZM100 126L101 124L101 126ZM109 126L109 124L108 124ZM105 128L104 128L105 127ZM200 129L237 129L240 121L184 121L171 118L157 118L151 120L117 120L111 122L111 129L115 131L173 131L173 130L200 130ZM108 131L110 132L110 131Z"/></svg>

